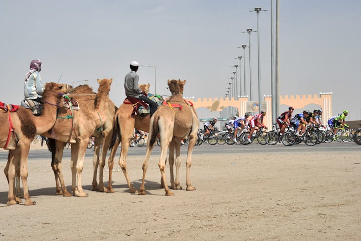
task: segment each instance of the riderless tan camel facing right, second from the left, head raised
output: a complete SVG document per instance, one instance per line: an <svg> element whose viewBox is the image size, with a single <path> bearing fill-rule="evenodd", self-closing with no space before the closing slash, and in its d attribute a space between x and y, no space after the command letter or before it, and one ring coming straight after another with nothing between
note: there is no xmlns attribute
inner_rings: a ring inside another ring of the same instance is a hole
<svg viewBox="0 0 361 241"><path fill-rule="evenodd" d="M61 170L64 146L66 143L71 143L72 191L75 196L88 196L82 188L84 156L89 138L92 135L100 135L101 128L107 120L110 84L113 79L98 79L97 81L99 83L97 94L88 85L78 86L69 94L69 96L76 97L80 110L70 111L60 108L58 119L53 128L57 139L55 142L49 139L48 142L52 152L51 166L55 175L56 194L71 196L65 187ZM42 135L51 138L47 133ZM76 185L77 180L78 185Z"/></svg>

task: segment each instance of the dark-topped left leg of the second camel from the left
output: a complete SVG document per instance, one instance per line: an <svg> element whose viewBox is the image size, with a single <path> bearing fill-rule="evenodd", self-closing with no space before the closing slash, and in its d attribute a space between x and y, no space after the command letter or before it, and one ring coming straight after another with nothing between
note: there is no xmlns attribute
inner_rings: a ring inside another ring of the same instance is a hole
<svg viewBox="0 0 361 241"><path fill-rule="evenodd" d="M63 158L65 143L55 140L55 149L51 152L51 168L55 176L55 195L71 196L64 182L61 160Z"/></svg>

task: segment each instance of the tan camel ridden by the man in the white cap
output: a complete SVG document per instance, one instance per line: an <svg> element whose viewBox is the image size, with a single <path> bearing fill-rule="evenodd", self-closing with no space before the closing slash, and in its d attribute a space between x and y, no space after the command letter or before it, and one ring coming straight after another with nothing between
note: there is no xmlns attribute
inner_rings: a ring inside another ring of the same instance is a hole
<svg viewBox="0 0 361 241"><path fill-rule="evenodd" d="M148 93L149 83L147 85L139 85L139 88L144 92ZM122 143L122 149L120 151L119 157L119 166L121 167L125 179L127 181L128 187L131 193L137 192L129 178L127 170L127 155L129 145L133 139L134 128L142 130L144 132L149 132L149 120L150 115L135 115L132 117L132 111L134 107L132 104L122 103L119 106L117 113L114 116L114 125L113 125L113 140L110 145L111 152L108 159L109 166L109 181L108 181L108 193L114 193L112 187L112 171L114 167L114 157L117 152L118 146Z"/></svg>

